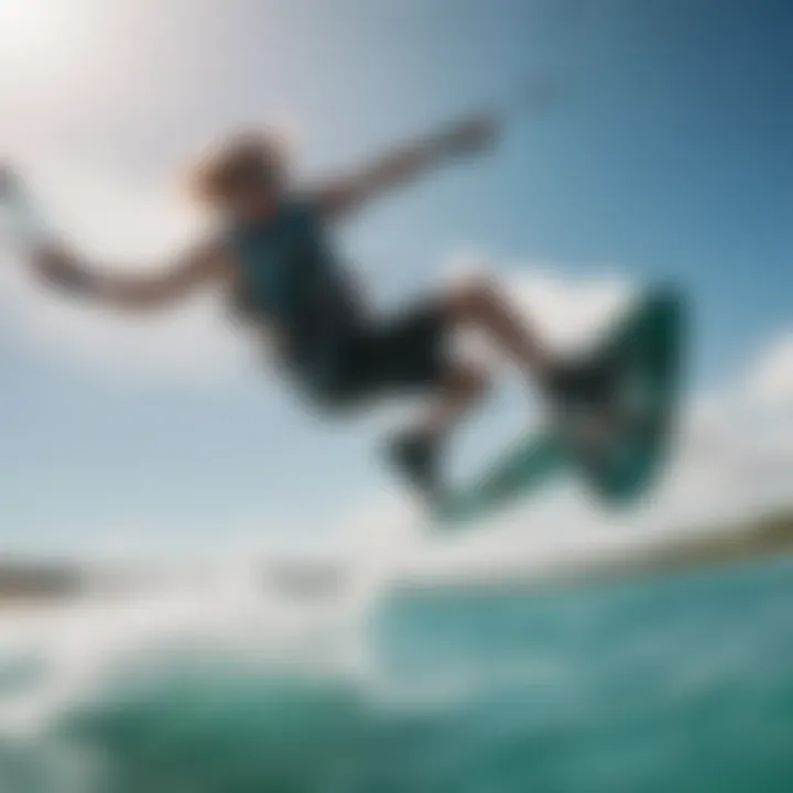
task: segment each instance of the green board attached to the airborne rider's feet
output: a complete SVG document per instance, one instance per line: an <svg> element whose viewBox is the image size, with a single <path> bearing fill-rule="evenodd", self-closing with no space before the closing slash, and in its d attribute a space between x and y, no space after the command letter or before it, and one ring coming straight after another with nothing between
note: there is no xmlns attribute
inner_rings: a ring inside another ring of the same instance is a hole
<svg viewBox="0 0 793 793"><path fill-rule="evenodd" d="M454 488L437 506L436 522L452 528L487 517L565 471L577 472L609 506L630 504L647 493L673 435L684 314L676 292L648 293L595 352L612 378L608 423L594 410L561 414L544 433L515 443L478 479ZM595 442L593 428L599 432Z"/></svg>

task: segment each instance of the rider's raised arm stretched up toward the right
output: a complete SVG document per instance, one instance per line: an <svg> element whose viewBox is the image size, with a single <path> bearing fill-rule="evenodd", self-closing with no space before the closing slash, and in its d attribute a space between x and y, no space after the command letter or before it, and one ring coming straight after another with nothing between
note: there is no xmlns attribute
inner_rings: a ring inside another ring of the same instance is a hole
<svg viewBox="0 0 793 793"><path fill-rule="evenodd" d="M359 171L325 185L317 200L333 216L423 176L452 157L486 149L498 132L493 118L476 116L399 146Z"/></svg>

